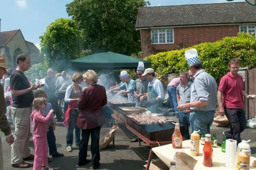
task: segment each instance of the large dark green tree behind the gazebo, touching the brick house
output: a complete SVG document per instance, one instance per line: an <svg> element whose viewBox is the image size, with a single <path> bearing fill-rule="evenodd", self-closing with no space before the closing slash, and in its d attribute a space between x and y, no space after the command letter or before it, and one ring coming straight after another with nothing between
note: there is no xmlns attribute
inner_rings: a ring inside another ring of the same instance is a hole
<svg viewBox="0 0 256 170"><path fill-rule="evenodd" d="M135 30L138 8L148 4L144 0L74 0L66 7L82 30L84 50L130 55L140 51L140 33Z"/></svg>

